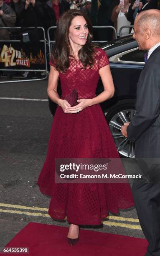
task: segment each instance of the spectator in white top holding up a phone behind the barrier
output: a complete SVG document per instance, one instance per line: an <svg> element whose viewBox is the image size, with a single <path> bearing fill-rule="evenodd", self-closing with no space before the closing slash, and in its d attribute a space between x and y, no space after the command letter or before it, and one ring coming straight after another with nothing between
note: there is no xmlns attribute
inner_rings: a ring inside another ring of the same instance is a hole
<svg viewBox="0 0 160 256"><path fill-rule="evenodd" d="M130 26L130 21L127 20L126 14L130 6L130 0L124 0L124 6L119 3L112 10L111 20L114 22L114 28L117 31L117 36L119 36L119 29L122 26ZM130 28L123 28L122 36L126 36L130 33ZM113 38L114 39L114 38Z"/></svg>

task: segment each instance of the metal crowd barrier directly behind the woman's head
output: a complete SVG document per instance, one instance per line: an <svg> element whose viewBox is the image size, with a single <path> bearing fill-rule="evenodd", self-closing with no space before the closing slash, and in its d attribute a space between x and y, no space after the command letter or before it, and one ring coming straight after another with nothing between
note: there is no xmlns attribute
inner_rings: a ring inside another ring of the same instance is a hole
<svg viewBox="0 0 160 256"><path fill-rule="evenodd" d="M117 31L114 27L112 26L93 26L93 28L112 28L114 33L115 33L115 38L117 39ZM51 56L51 50L53 48L53 45L55 43L55 41L51 40L50 38L50 31L51 29L56 29L56 26L53 26L53 27L50 27L48 28L48 31L47 31L47 36L48 36L48 46L49 46L49 56ZM92 41L93 43L104 43L106 41Z"/></svg>

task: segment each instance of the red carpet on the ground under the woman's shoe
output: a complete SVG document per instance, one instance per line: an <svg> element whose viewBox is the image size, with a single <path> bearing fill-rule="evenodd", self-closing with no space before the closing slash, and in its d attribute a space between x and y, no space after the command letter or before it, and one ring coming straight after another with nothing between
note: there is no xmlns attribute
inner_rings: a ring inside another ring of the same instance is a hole
<svg viewBox="0 0 160 256"><path fill-rule="evenodd" d="M79 242L70 246L66 242L68 230L69 228L31 222L5 247L29 247L29 254L23 255L31 256L143 256L146 252L145 239L82 229L79 232Z"/></svg>

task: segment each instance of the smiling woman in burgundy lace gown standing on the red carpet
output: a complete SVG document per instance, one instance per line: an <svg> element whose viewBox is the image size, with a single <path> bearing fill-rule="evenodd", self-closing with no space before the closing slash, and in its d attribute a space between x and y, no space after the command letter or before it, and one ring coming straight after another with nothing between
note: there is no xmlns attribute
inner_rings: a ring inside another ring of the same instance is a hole
<svg viewBox="0 0 160 256"><path fill-rule="evenodd" d="M132 207L134 202L129 184L55 183L56 158L119 158L99 105L114 95L109 60L91 43L89 18L80 10L69 10L59 19L56 33L47 92L58 107L38 185L43 194L51 195L49 215L57 220L67 216L71 223L68 242L73 245L78 241L79 225L100 225L109 212L119 214L119 209ZM104 91L96 96L99 75ZM79 100L71 107L64 98L73 89Z"/></svg>

